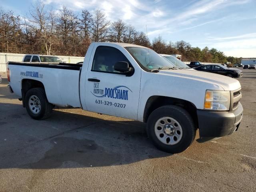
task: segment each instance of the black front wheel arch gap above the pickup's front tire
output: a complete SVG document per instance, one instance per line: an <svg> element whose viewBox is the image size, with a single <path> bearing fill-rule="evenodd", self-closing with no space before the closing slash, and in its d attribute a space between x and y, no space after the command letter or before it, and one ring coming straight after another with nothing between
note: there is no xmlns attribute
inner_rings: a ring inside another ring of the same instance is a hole
<svg viewBox="0 0 256 192"><path fill-rule="evenodd" d="M149 115L156 110L157 108L164 105L176 105L184 108L190 116L192 117L196 128L198 128L198 117L197 117L197 108L196 106L187 100L183 100L180 98L166 97L166 96L150 96L148 98L143 115L143 122L148 121Z"/></svg>

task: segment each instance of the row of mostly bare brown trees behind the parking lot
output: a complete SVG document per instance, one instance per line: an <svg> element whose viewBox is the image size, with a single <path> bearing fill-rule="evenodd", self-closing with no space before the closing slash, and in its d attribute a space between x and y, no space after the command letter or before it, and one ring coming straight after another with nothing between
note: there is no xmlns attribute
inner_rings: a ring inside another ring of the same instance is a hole
<svg viewBox="0 0 256 192"><path fill-rule="evenodd" d="M0 10L0 52L84 56L91 42L124 42L157 53L181 54L182 61L241 62L215 48L194 48L183 40L166 42L158 36L150 42L145 32L121 19L111 22L101 10L77 14L66 6L56 11L37 3L26 15Z"/></svg>

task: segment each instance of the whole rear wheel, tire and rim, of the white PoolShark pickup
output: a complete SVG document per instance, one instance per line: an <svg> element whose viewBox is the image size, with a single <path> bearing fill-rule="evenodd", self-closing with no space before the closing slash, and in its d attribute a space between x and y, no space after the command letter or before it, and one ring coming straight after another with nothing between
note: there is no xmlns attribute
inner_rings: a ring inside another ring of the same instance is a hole
<svg viewBox="0 0 256 192"><path fill-rule="evenodd" d="M28 90L25 96L25 106L30 117L36 120L48 118L53 107L48 102L43 88Z"/></svg>

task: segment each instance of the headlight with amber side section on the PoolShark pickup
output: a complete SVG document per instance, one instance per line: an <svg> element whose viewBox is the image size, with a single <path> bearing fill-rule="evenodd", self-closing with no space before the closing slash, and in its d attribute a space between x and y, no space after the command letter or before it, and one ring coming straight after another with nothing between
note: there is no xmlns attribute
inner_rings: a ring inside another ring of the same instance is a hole
<svg viewBox="0 0 256 192"><path fill-rule="evenodd" d="M226 111L230 108L230 92L206 90L204 109Z"/></svg>

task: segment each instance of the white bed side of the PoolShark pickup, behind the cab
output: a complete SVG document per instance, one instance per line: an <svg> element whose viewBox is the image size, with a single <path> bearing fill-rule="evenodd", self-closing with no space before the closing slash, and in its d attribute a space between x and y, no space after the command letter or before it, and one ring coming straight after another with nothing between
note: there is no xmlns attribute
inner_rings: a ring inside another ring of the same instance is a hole
<svg viewBox="0 0 256 192"><path fill-rule="evenodd" d="M79 98L80 68L82 64L8 62L10 85L22 96L24 79L42 82L50 103L58 106L81 107Z"/></svg>

